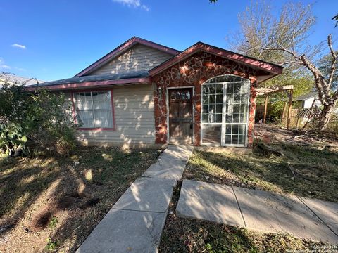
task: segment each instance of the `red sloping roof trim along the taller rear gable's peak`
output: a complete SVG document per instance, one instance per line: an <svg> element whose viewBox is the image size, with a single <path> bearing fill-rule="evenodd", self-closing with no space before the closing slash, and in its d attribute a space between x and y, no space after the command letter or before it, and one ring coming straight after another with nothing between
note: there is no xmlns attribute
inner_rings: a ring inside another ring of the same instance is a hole
<svg viewBox="0 0 338 253"><path fill-rule="evenodd" d="M134 36L131 39L128 39L127 41L125 41L125 43L121 44L117 48L113 49L113 51L107 53L106 56L100 58L99 60L96 60L95 63L93 63L92 65L89 65L89 67L86 67L80 73L76 74L75 77L82 77L85 74L88 74L89 72L92 72L93 70L96 70L98 67L101 67L102 65L108 63L113 58L120 56L121 53L127 51L129 48L131 48L135 44L142 44L144 46L149 46L151 48L158 49L160 51L171 54L173 56L176 56L177 53L180 53L180 51L174 48L163 46L161 44L157 44L155 42L148 41L146 39L142 39L142 38Z"/></svg>

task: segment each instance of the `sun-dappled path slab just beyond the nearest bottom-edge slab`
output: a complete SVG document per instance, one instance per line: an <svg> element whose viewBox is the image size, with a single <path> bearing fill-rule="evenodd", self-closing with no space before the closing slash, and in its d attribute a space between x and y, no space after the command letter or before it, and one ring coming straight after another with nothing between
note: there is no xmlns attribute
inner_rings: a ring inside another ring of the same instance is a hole
<svg viewBox="0 0 338 253"><path fill-rule="evenodd" d="M113 209L166 212L176 182L175 179L139 178L123 193Z"/></svg>

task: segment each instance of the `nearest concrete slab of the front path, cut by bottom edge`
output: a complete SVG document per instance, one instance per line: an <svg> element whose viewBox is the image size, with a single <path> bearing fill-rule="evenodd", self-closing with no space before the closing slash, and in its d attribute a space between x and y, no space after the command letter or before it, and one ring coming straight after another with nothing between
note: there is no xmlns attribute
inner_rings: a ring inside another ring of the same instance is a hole
<svg viewBox="0 0 338 253"><path fill-rule="evenodd" d="M166 215L111 209L76 252L157 252Z"/></svg>

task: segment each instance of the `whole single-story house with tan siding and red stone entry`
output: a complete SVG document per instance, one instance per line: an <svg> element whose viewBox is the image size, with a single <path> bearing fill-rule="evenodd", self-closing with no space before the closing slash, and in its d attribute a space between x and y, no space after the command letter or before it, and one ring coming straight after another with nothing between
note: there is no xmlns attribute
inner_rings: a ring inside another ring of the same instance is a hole
<svg viewBox="0 0 338 253"><path fill-rule="evenodd" d="M246 147L255 87L281 73L278 65L201 42L181 52L132 37L75 77L27 89L64 92L88 145Z"/></svg>

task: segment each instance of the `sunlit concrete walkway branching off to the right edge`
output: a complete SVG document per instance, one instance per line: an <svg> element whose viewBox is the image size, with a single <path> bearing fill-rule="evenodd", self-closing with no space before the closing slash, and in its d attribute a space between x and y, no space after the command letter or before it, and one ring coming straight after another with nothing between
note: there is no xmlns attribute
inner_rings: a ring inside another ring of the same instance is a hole
<svg viewBox="0 0 338 253"><path fill-rule="evenodd" d="M177 215L338 244L338 203L184 180Z"/></svg>

